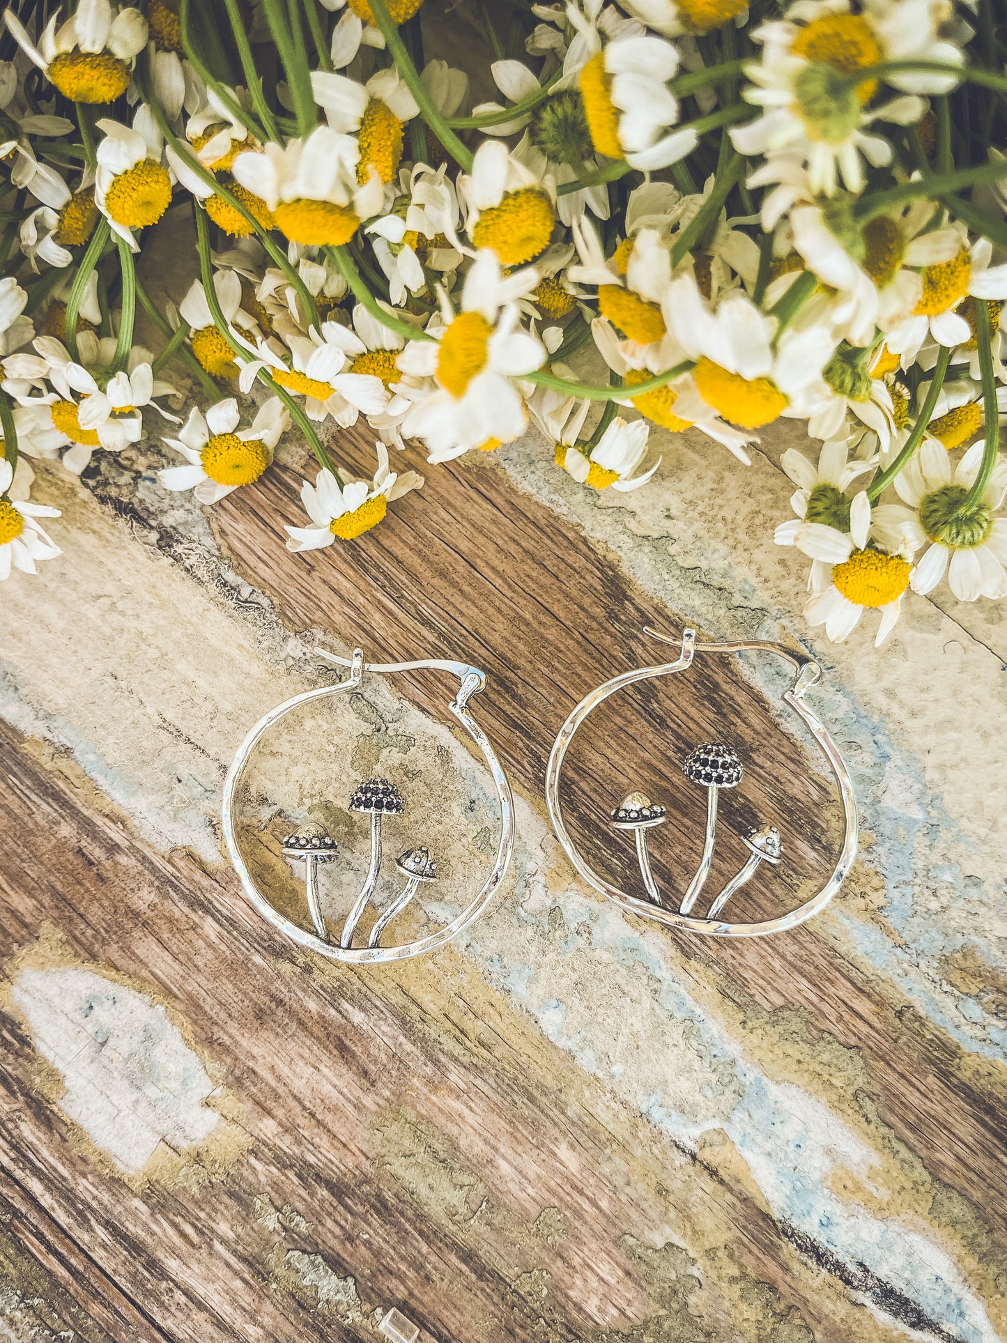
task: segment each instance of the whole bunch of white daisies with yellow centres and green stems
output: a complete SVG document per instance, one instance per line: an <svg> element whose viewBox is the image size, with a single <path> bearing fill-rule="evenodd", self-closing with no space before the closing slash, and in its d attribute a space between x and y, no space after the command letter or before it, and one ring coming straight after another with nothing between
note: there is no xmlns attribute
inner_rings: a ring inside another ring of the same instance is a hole
<svg viewBox="0 0 1007 1343"><path fill-rule="evenodd" d="M295 428L302 551L423 485L407 441L436 465L532 428L585 490L670 490L677 435L744 470L785 418L812 624L877 611L881 642L909 590L1007 596L996 5L447 8L7 11L0 576L58 553L26 457L79 474L160 420L161 483L208 506ZM169 210L199 278L161 310L136 254ZM332 449L361 418L363 481Z"/></svg>

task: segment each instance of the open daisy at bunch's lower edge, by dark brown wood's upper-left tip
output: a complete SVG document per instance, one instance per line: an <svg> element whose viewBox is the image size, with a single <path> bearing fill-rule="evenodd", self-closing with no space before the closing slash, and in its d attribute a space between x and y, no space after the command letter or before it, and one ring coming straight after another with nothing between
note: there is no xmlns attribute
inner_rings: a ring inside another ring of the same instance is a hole
<svg viewBox="0 0 1007 1343"><path fill-rule="evenodd" d="M278 396L265 402L247 428L240 428L238 402L228 398L211 406L205 418L193 406L177 438L165 443L185 458L185 466L157 473L166 490L192 490L200 504L216 504L242 485L251 485L273 461L290 416Z"/></svg>

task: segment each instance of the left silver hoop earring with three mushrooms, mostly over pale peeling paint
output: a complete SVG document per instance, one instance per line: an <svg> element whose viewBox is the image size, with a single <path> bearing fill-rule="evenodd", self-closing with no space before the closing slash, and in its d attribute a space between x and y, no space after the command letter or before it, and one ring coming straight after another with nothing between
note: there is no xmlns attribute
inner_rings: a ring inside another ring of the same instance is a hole
<svg viewBox="0 0 1007 1343"><path fill-rule="evenodd" d="M467 710L469 700L474 694L478 694L486 685L486 676L479 672L478 667L469 666L466 662L446 662L440 659L419 662L365 662L364 654L360 649L353 653L352 658L341 658L334 653L326 653L322 649L317 649L316 651L320 657L325 658L326 662L332 662L340 667L346 667L349 670L349 676L346 676L342 681L337 681L334 685L325 685L316 690L306 690L303 694L295 694L291 700L286 700L283 704L277 705L275 709L271 709L265 717L259 719L251 732L248 732L244 741L238 748L238 753L235 755L231 768L227 772L227 779L224 780L222 821L228 855L235 872L242 880L244 893L248 900L251 900L252 905L273 924L274 928L282 932L291 941L295 941L299 947L307 947L311 951L317 951L322 956L329 956L332 960L342 960L357 966L373 962L403 960L407 956L420 956L423 952L435 951L438 947L443 947L444 943L450 941L451 937L457 936L463 928L467 928L469 924L479 917L506 874L510 865L510 854L514 846L514 804L510 794L510 784L493 747L490 745L489 739ZM313 700L321 700L332 694L345 694L349 690L354 690L361 684L365 674L375 673L379 676L393 676L397 672L419 672L424 669L447 672L451 676L458 677L458 693L450 702L448 709L482 752L490 775L493 776L493 783L497 790L497 800L499 803L501 827L499 843L497 846L497 860L493 870L478 894L446 927L439 928L424 937L418 937L415 941L404 941L383 947L381 940L385 933L389 932L389 925L411 902L419 890L420 884L436 880L436 864L428 849L407 849L395 862L399 876L404 878L405 882L403 889L389 904L385 905L384 909L377 912L377 919L371 928L367 945L354 947L353 940L363 915L365 913L368 905L375 908L373 896L381 873L383 861L383 823L385 819L393 821L405 810L403 796L395 784L388 783L385 779L361 780L353 788L346 810L371 817L371 861L367 880L353 900L350 912L346 916L337 939L333 940L329 933L329 927L321 909L318 892L318 868L338 861L337 842L320 826L305 826L283 841L283 855L289 860L303 862L305 896L313 928L313 931L309 932L299 924L283 917L283 915L281 915L266 898L262 890L259 890L259 886L252 878L238 846L235 803L252 752L263 736L273 727L275 727L281 719L286 717L286 714L291 713L303 704L309 704Z"/></svg>

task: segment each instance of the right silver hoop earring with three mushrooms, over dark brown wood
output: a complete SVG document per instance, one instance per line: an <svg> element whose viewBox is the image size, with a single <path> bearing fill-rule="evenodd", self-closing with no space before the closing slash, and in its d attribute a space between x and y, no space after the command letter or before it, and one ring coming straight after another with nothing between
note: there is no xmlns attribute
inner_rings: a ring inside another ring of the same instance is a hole
<svg viewBox="0 0 1007 1343"><path fill-rule="evenodd" d="M644 633L650 634L655 639L661 639L663 643L678 643L677 639L669 639L654 630L646 630ZM667 814L666 807L651 802L642 792L631 792L611 813L612 830L616 834L631 831L634 835L636 845L636 862L643 880L643 886L649 896L647 900L640 900L636 896L622 890L619 886L614 886L611 882L606 881L604 877L599 876L571 839L567 823L563 818L563 807L560 804L560 772L573 736L588 714L591 714L611 694L615 694L616 690L634 685L636 681L647 681L654 677L675 676L678 673L687 672L691 666L693 654L696 651L761 651L771 653L776 657L784 658L787 662L791 662L796 667L796 677L789 689L784 690L781 700L808 728L815 741L822 748L822 752L839 786L846 829L843 833L842 850L832 874L816 894L811 896L796 909L791 909L788 913L781 915L779 919L764 919L759 923L729 923L721 917L724 907L733 898L741 886L755 877L761 864L767 862L775 866L783 860L783 843L780 841L780 833L775 826L757 826L748 831L744 842L749 850L749 855L744 866L713 898L705 917L701 917L698 913L693 913L693 909L702 894L706 877L709 876L710 862L713 860L713 847L717 833L718 792L721 788L737 787L742 778L741 760L730 747L726 747L720 741L708 741L702 745L697 745L686 756L682 766L685 776L706 790L706 837L700 865L679 900L678 909L669 908L669 905L665 904L665 897L654 880L650 853L647 849L647 831L665 822ZM759 937L771 932L784 932L787 928L796 928L798 924L804 923L807 919L811 919L812 915L824 909L846 880L846 876L853 866L853 861L857 857L857 799L854 795L850 771L847 770L843 757L839 755L835 743L816 714L804 702L806 692L820 680L822 669L818 662L806 657L803 653L788 649L783 643L764 643L759 641L697 643L696 630L686 630L682 635L679 657L674 662L666 662L661 666L638 667L634 672L624 672L622 676L612 677L611 681L606 681L604 685L597 686L597 689L587 694L560 728L559 736L556 737L552 748L552 755L549 756L549 766L545 775L545 799L549 806L549 817L552 818L556 838L563 845L567 857L580 876L589 882L595 890L600 890L603 896L614 900L618 905L622 905L623 909L628 909L636 915L643 915L647 919L657 919L658 923L673 928L686 928L689 932L708 933L718 937Z"/></svg>

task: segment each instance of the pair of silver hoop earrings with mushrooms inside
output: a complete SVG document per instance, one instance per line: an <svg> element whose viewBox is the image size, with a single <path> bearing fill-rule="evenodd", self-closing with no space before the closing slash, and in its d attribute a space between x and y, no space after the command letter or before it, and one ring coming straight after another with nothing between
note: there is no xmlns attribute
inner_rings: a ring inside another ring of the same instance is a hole
<svg viewBox="0 0 1007 1343"><path fill-rule="evenodd" d="M675 646L679 643L679 641L669 639L653 630L647 630L646 633L665 643ZM745 884L757 876L759 868L763 864L775 866L784 860L783 842L773 826L756 826L745 834L744 843L749 853L742 868L712 900L704 898L714 851L718 795L724 788L737 787L744 775L742 761L729 745L717 741L697 745L686 756L682 766L686 778L706 794L706 834L698 868L685 892L678 897L677 908L674 908L673 897L662 892L654 878L647 847L647 831L662 825L667 818L667 811L663 806L651 802L640 792L631 792L611 810L610 823L614 837L626 837L628 839L628 834L632 834L636 849L636 865L643 889L646 890L646 898L623 890L595 872L567 829L560 803L560 778L567 752L584 721L610 696L630 685L658 677L687 673L693 665L693 655L697 651L713 654L757 651L768 653L789 662L795 667L795 677L789 688L783 692L781 701L798 714L810 731L822 749L839 787L845 830L842 847L832 873L820 890L776 919L734 923L724 916L728 902L733 900ZM486 676L478 667L470 666L466 662L426 659L416 662L368 663L364 661L364 654L360 649L354 651L352 658L337 657L322 649L318 649L317 653L333 666L346 669L348 676L333 685L320 686L303 694L297 694L260 719L239 747L227 774L222 810L224 839L231 862L242 880L246 894L258 912L291 941L310 948L322 956L352 964L367 964L372 962L401 960L407 956L419 956L424 952L435 951L474 923L485 911L506 876L514 847L514 804L510 784L493 745L470 714L467 706L469 700L485 688ZM393 783L385 779L365 779L349 790L346 810L371 818L371 857L364 884L357 892L341 928L337 932L325 917L318 885L320 869L340 861L338 843L317 825L303 826L283 841L283 855L301 869L307 916L303 923L285 917L260 890L248 870L238 842L235 808L242 795L246 770L255 748L281 719L285 719L301 705L329 696L353 692L360 688L365 676L395 676L401 672L419 670L447 672L450 676L458 678L458 693L448 705L450 712L482 752L497 791L499 839L493 869L479 892L469 900L469 904L454 919L443 923L439 928L424 936L412 940L396 940L396 932L401 928L400 916L416 897L420 886L436 881L436 861L426 846L404 849L395 860L397 886L400 889L396 889L391 897L384 894L379 904L376 896L383 872L383 845L387 839L384 826L385 822L388 822L389 827L397 823L405 811L405 800ZM686 630L682 635L675 661L623 672L620 676L612 677L604 685L597 686L587 694L560 728L549 756L545 778L545 799L556 838L577 873L595 890L631 913L654 919L667 927L685 928L689 932L717 937L755 937L783 932L788 928L795 928L823 909L842 885L857 855L857 802L853 780L850 779L850 772L843 757L818 716L804 701L806 693L818 685L820 678L822 670L812 658L794 651L781 643L761 641L700 643L696 639L696 631ZM701 915L700 908L704 904L706 905L706 913ZM373 916L371 927L367 932L363 932L361 928L369 916ZM310 924L310 928L306 924Z"/></svg>

